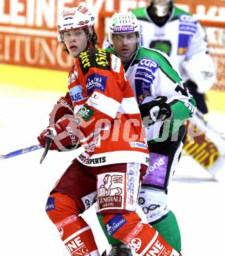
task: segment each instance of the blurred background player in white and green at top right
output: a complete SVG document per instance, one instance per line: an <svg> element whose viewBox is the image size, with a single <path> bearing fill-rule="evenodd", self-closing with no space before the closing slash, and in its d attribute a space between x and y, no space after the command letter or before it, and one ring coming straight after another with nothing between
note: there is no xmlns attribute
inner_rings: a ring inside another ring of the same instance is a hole
<svg viewBox="0 0 225 256"><path fill-rule="evenodd" d="M192 14L173 5L173 0L150 0L132 12L142 26L142 45L167 53L206 114L205 92L215 83L215 64L209 54L206 33Z"/></svg>

